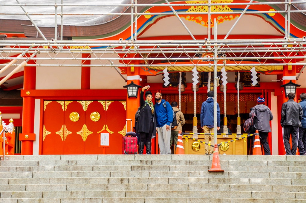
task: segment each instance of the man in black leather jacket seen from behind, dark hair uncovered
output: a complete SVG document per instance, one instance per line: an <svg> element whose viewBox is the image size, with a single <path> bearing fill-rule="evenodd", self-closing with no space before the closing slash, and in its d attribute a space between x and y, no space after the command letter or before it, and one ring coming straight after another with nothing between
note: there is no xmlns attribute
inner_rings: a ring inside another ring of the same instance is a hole
<svg viewBox="0 0 306 203"><path fill-rule="evenodd" d="M293 99L295 94L288 94L288 102L283 103L281 113L281 125L283 127L283 140L286 155L296 155L297 143L299 139L299 127L302 126L301 120L303 109L301 105ZM292 140L292 148L290 149L290 134Z"/></svg>

